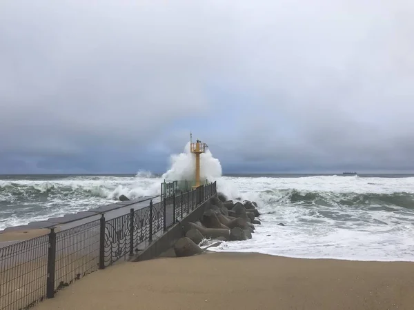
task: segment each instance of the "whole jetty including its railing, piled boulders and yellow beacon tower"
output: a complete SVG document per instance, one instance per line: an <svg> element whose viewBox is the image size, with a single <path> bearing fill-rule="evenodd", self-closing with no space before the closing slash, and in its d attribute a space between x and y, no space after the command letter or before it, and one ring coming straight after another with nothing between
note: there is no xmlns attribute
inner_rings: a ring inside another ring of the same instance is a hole
<svg viewBox="0 0 414 310"><path fill-rule="evenodd" d="M233 202L217 183L201 180L200 154L190 143L195 180L161 183L160 194L126 200L0 231L27 240L0 242L0 310L29 309L88 274L122 261L148 260L174 249L176 256L201 253L208 238L252 238L257 204Z"/></svg>

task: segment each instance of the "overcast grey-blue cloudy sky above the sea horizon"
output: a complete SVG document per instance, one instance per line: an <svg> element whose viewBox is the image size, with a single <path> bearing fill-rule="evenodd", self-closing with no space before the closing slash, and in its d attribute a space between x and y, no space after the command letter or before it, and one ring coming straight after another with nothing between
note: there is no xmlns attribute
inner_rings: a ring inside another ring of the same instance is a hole
<svg viewBox="0 0 414 310"><path fill-rule="evenodd" d="M411 0L3 0L0 174L414 172Z"/></svg>

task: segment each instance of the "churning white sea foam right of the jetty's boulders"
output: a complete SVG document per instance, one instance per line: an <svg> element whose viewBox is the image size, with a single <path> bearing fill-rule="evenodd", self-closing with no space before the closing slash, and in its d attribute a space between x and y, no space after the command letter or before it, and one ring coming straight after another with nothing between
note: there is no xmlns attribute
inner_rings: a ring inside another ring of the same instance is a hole
<svg viewBox="0 0 414 310"><path fill-rule="evenodd" d="M259 202L262 225L257 225L253 239L224 242L210 251L257 252L294 258L414 261L413 209L393 206L394 211L371 210L335 203L337 194L414 194L414 178L314 176L223 178L221 182L235 183L243 198ZM317 192L331 199L333 205L289 203L293 190L300 194ZM329 216L324 216L326 212Z"/></svg>

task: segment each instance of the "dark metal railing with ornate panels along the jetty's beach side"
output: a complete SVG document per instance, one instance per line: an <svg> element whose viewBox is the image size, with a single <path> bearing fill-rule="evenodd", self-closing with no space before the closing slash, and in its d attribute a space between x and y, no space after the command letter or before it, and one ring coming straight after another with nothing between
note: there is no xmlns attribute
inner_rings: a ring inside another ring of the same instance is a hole
<svg viewBox="0 0 414 310"><path fill-rule="evenodd" d="M217 192L210 183L159 203L0 248L0 310L28 309L122 258L139 254Z"/></svg>

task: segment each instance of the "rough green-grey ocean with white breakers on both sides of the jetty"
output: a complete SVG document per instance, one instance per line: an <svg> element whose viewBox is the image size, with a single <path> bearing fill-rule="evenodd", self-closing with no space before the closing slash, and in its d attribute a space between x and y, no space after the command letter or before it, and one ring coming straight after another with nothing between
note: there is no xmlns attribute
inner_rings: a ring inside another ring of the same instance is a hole
<svg viewBox="0 0 414 310"><path fill-rule="evenodd" d="M121 194L158 194L164 178L183 177L177 171L184 159L172 161L175 168L164 176L0 176L0 229L112 203ZM211 172L217 162L205 170ZM221 174L221 167L214 171ZM414 261L414 175L209 177L228 198L255 200L262 214L253 239L224 242L214 251Z"/></svg>

